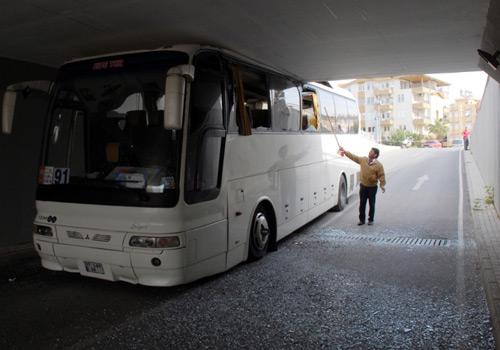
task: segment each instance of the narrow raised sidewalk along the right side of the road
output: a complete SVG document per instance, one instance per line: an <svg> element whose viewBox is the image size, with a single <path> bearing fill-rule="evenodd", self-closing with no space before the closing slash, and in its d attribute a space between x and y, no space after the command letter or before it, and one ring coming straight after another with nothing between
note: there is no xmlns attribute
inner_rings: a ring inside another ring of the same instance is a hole
<svg viewBox="0 0 500 350"><path fill-rule="evenodd" d="M471 152L464 152L474 233L478 245L481 278L491 315L493 333L500 349L500 218L492 205L484 202L485 183ZM495 198L498 205L498 199Z"/></svg>

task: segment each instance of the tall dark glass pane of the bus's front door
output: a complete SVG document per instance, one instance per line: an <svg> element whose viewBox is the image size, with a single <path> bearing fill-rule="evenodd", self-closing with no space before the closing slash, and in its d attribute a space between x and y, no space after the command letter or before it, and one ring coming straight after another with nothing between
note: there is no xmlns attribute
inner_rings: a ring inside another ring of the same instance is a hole
<svg viewBox="0 0 500 350"><path fill-rule="evenodd" d="M185 200L189 204L219 194L226 137L223 91L219 57L200 53L195 58L188 119Z"/></svg>

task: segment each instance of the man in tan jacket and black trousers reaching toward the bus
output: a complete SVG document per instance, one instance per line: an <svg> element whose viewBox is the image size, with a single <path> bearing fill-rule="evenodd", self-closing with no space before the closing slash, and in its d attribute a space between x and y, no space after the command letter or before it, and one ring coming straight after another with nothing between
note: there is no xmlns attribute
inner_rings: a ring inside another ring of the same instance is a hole
<svg viewBox="0 0 500 350"><path fill-rule="evenodd" d="M361 168L361 183L359 185L359 222L358 225L365 224L366 217L366 201L370 203L370 211L368 212L368 225L373 225L375 217L375 196L377 195L377 184L380 181L380 189L385 192L385 174L384 167L377 158L380 154L378 148L372 148L368 153L368 157L358 157L351 152L340 147L341 156L346 155L347 158L358 163Z"/></svg>

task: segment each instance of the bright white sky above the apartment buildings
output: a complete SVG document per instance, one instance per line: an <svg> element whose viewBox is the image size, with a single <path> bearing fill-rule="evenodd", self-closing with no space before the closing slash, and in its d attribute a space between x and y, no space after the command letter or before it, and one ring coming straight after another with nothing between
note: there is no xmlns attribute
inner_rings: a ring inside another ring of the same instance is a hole
<svg viewBox="0 0 500 350"><path fill-rule="evenodd" d="M472 92L472 95L475 98L481 99L488 77L488 75L483 71L461 73L431 73L428 75L450 84L450 87L448 89L450 93L449 97L451 99L457 98L460 95L461 89L469 90ZM347 83L349 81L352 81L352 79L335 80L331 83L338 85Z"/></svg>

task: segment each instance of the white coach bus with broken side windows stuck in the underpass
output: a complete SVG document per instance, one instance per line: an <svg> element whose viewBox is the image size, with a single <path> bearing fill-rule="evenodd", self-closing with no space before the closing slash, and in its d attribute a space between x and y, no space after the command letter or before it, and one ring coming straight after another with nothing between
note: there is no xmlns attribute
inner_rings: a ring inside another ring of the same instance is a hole
<svg viewBox="0 0 500 350"><path fill-rule="evenodd" d="M334 134L358 134L355 100L225 50L72 61L50 94L33 226L50 270L187 283L275 250L357 185Z"/></svg>

